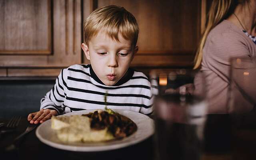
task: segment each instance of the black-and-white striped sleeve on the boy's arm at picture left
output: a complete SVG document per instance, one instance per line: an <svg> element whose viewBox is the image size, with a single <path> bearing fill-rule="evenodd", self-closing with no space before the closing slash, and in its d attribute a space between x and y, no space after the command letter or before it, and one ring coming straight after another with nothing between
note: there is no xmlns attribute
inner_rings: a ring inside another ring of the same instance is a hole
<svg viewBox="0 0 256 160"><path fill-rule="evenodd" d="M41 99L40 109L52 109L56 110L59 115L63 114L62 104L66 98L65 90L67 87L65 72L66 69L61 70L52 89Z"/></svg>

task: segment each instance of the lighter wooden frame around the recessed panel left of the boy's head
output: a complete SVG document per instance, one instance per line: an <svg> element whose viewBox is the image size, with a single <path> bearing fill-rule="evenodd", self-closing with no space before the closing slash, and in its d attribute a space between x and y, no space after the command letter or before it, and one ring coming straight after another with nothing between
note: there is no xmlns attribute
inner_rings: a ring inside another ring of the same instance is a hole
<svg viewBox="0 0 256 160"><path fill-rule="evenodd" d="M58 67L81 63L81 0L52 0L51 2L52 54L0 55L0 66ZM29 4L26 3L26 5ZM47 10L44 10L44 13L46 12Z"/></svg>

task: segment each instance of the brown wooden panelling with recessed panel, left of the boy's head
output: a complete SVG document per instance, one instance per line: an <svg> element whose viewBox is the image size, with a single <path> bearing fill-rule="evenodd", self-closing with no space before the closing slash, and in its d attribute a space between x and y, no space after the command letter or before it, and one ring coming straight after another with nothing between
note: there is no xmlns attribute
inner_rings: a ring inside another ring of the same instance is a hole
<svg viewBox="0 0 256 160"><path fill-rule="evenodd" d="M81 13L81 0L0 0L0 66L81 63ZM8 76L19 76L12 68Z"/></svg>

